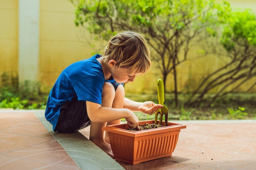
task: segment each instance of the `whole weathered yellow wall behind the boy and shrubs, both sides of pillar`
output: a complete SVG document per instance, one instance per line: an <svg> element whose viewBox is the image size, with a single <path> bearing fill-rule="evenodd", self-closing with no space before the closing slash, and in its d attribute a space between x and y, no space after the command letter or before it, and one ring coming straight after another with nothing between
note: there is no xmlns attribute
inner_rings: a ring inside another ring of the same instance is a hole
<svg viewBox="0 0 256 170"><path fill-rule="evenodd" d="M255 0L229 0L234 7L249 7L256 11ZM10 77L18 76L18 0L0 0L0 75L7 72ZM69 64L90 57L95 51L103 52L106 42L94 42L83 28L74 24L74 6L69 0L40 0L39 20L39 79L43 92L49 92L61 71ZM97 45L90 46L88 44ZM189 55L196 55L192 49ZM207 61L207 62L206 62ZM213 64L214 63L214 64ZM178 90L191 91L203 76L220 66L217 57L184 62L178 66ZM213 66L214 65L214 66ZM203 67L202 67L203 66ZM126 84L127 93L156 92L159 71L152 67L134 83ZM1 82L1 81L0 81ZM255 79L251 83L254 83ZM167 91L173 91L173 77L168 76ZM245 89L240 89L245 91ZM254 88L254 91L256 89Z"/></svg>

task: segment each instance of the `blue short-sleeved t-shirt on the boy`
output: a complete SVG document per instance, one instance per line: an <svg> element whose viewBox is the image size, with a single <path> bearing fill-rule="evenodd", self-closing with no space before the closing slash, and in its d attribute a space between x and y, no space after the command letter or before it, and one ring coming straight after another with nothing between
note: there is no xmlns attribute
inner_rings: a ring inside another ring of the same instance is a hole
<svg viewBox="0 0 256 170"><path fill-rule="evenodd" d="M49 93L45 118L53 130L58 122L60 108L72 99L90 101L101 104L101 94L104 84L104 73L97 54L88 59L75 62L65 68L56 80ZM115 81L115 80L114 80Z"/></svg>

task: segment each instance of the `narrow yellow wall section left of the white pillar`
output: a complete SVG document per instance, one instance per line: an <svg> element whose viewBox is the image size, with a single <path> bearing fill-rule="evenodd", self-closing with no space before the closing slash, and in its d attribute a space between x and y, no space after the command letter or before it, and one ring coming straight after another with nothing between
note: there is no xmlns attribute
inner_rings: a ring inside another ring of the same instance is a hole
<svg viewBox="0 0 256 170"><path fill-rule="evenodd" d="M18 76L18 0L0 0L0 76L4 72Z"/></svg>

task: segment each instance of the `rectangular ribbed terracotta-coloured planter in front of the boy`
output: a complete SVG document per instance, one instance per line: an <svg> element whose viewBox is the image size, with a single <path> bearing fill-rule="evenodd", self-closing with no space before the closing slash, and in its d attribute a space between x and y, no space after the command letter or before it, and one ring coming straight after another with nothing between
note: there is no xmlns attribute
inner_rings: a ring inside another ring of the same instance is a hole
<svg viewBox="0 0 256 170"><path fill-rule="evenodd" d="M153 124L155 120L140 121L139 124ZM164 121L162 122L164 125ZM161 128L130 131L127 124L102 127L108 132L110 145L117 161L132 165L170 157L176 147L180 129L186 125L168 122Z"/></svg>

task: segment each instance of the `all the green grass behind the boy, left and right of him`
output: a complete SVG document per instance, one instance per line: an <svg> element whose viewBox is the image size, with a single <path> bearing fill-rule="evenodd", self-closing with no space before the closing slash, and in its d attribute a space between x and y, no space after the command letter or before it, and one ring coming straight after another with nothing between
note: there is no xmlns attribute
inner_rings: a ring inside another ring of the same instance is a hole
<svg viewBox="0 0 256 170"><path fill-rule="evenodd" d="M23 95L13 88L0 88L0 108L45 109L48 94ZM211 95L211 94L209 94ZM30 96L30 97L29 97ZM158 103L157 94L126 94L137 102L153 101ZM164 104L168 108L168 119L209 120L209 119L256 119L256 94L232 93L213 103L200 103L198 107L186 106L189 94L179 94L179 105L175 107L174 95L165 94ZM155 115L135 112L140 120L155 119Z"/></svg>

